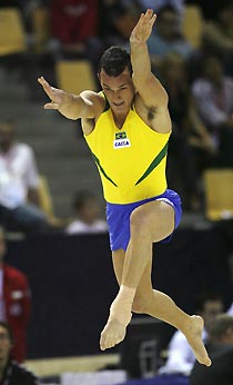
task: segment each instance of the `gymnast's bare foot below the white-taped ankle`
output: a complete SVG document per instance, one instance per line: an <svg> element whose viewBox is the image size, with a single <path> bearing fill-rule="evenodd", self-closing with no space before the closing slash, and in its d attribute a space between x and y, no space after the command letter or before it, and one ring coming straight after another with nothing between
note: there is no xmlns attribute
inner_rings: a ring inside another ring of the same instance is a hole
<svg viewBox="0 0 233 385"><path fill-rule="evenodd" d="M118 319L109 319L100 337L100 348L105 351L121 343L126 333L126 327Z"/></svg>

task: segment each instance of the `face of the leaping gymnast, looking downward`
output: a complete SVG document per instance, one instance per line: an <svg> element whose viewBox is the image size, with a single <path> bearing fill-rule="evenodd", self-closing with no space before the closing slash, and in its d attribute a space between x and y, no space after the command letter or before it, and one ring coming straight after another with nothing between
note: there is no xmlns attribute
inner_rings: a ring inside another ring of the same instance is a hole
<svg viewBox="0 0 233 385"><path fill-rule="evenodd" d="M113 113L115 116L126 115L135 93L129 69L125 68L116 77L109 76L101 69L99 79Z"/></svg>

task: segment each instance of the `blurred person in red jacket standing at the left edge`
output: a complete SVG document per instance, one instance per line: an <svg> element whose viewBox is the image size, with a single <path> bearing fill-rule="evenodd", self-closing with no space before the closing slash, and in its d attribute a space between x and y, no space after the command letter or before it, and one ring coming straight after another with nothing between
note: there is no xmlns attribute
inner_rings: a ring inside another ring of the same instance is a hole
<svg viewBox="0 0 233 385"><path fill-rule="evenodd" d="M30 288L26 275L3 261L6 250L4 233L0 228L0 320L9 323L14 340L11 356L21 363L27 355Z"/></svg>

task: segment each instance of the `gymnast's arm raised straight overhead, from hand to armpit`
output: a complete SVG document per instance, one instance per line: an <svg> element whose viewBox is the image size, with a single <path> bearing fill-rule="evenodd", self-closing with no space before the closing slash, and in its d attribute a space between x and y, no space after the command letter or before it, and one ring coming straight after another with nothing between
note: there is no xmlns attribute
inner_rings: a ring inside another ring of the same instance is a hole
<svg viewBox="0 0 233 385"><path fill-rule="evenodd" d="M148 39L156 14L149 9L141 14L130 37L133 83L136 89L135 110L154 131L171 132L172 124L168 109L169 97L151 71Z"/></svg>

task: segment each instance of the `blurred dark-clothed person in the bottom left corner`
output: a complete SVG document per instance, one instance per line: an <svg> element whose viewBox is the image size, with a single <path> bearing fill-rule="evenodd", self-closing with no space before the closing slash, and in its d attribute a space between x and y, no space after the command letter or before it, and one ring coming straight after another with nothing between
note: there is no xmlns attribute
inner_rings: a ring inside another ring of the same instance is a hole
<svg viewBox="0 0 233 385"><path fill-rule="evenodd" d="M39 379L11 359L13 336L7 323L0 322L0 383L2 385L39 385Z"/></svg>

